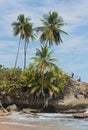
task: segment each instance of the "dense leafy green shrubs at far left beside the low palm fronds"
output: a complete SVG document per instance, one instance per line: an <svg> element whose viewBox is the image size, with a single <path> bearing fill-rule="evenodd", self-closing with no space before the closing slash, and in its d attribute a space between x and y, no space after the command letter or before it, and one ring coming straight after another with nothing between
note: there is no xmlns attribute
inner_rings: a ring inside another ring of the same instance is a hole
<svg viewBox="0 0 88 130"><path fill-rule="evenodd" d="M0 89L6 93L17 93L18 88L22 86L21 73L20 68L2 68L0 70Z"/></svg>

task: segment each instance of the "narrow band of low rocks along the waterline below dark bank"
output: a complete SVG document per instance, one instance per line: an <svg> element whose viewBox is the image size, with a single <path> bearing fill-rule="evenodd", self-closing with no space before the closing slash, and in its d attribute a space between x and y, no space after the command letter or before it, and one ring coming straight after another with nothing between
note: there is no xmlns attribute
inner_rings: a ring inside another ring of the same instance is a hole
<svg viewBox="0 0 88 130"><path fill-rule="evenodd" d="M21 111L22 113L26 113L26 114L32 114L32 115L37 115L37 113L40 113L40 112L50 113L49 110L41 111L39 109L31 109L31 108L23 108L19 110L19 108L15 104L13 104L13 105L8 106L5 109L5 111L3 109L0 109L0 116L11 115L13 112L18 112L18 111ZM74 110L74 109L69 108L69 110L59 110L58 112L56 111L54 113L72 114L74 118L88 118L87 109Z"/></svg>

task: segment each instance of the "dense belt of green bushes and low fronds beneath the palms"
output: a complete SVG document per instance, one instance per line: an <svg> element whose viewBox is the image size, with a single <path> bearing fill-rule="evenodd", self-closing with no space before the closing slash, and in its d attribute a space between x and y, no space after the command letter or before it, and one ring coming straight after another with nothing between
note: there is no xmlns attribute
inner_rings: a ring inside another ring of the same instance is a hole
<svg viewBox="0 0 88 130"><path fill-rule="evenodd" d="M63 92L67 80L68 76L58 67L45 71L43 82L45 97ZM2 68L0 70L0 89L2 91L19 97L21 92L24 92L24 88L29 94L42 96L42 76L35 64L30 64L29 68L24 71L20 68Z"/></svg>

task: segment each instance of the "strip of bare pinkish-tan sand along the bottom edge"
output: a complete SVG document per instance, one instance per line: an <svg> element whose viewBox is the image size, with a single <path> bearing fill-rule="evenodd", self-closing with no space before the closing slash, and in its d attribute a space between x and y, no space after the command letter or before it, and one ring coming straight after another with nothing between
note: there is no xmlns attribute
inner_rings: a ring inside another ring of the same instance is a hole
<svg viewBox="0 0 88 130"><path fill-rule="evenodd" d="M59 126L39 126L39 125L22 125L22 124L8 124L0 122L0 130L76 130L70 127Z"/></svg>

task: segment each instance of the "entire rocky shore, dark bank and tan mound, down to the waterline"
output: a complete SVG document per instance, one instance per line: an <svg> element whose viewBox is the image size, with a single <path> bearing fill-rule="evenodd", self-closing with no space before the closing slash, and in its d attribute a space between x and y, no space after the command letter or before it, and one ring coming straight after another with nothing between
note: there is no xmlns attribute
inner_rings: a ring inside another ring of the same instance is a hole
<svg viewBox="0 0 88 130"><path fill-rule="evenodd" d="M58 100L51 99L47 107L43 107L42 100L30 97L29 93L22 93L19 99L13 95L1 93L0 106L2 108L0 110L0 115L8 115L11 111L19 110L27 113L85 113L88 108L88 83L72 79L67 85L68 86L65 86L66 90L63 96L61 95L63 98Z"/></svg>

